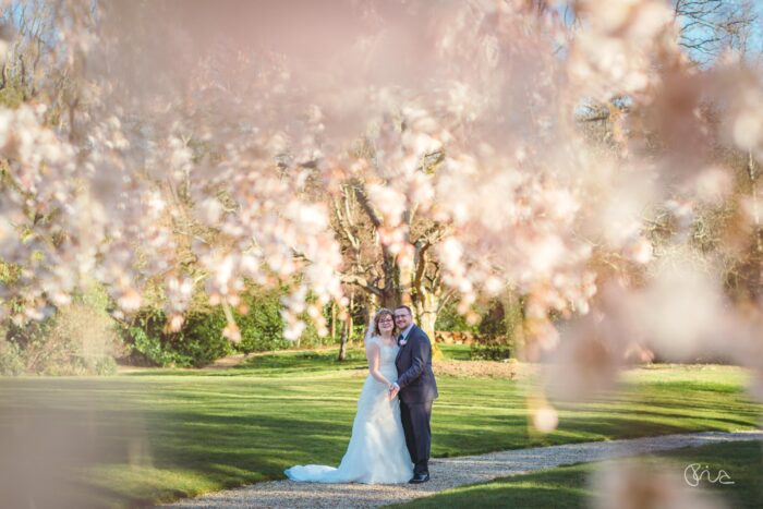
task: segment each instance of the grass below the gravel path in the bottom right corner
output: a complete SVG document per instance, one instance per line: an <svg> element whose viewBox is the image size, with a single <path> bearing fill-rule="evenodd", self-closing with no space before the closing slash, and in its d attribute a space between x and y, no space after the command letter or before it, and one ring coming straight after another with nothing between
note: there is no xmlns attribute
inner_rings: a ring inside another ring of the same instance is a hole
<svg viewBox="0 0 763 509"><path fill-rule="evenodd" d="M649 471L663 470L676 476L677 488L697 489L702 495L713 493L725 499L728 507L763 507L763 455L759 441L713 444L698 448L678 449L655 456L623 460ZM692 463L706 468L715 480L720 470L735 484L708 483L704 477L698 487L685 485L685 469ZM447 507L522 507L522 508L584 508L593 501L601 502L601 494L591 480L594 474L607 470L611 462L579 463L541 472L495 480L448 489L413 502L388 506L389 508L441 509ZM656 484L656 482L655 482ZM701 496L702 496L701 495Z"/></svg>

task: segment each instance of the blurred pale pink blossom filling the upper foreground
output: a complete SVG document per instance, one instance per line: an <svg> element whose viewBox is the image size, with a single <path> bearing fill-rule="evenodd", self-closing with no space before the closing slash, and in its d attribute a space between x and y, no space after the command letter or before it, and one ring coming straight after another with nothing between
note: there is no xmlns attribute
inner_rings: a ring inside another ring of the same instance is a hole
<svg viewBox="0 0 763 509"><path fill-rule="evenodd" d="M0 319L500 300L550 399L638 351L763 400L755 3L7 1Z"/></svg>

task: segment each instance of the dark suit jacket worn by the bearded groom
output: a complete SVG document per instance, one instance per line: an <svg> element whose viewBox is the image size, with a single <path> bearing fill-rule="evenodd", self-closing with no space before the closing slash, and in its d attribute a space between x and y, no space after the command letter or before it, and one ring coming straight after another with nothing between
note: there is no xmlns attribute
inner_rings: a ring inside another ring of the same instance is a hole
<svg viewBox="0 0 763 509"><path fill-rule="evenodd" d="M432 343L419 326L414 325L400 347L395 365L398 368L400 399L405 403L424 403L437 398L437 384L432 371Z"/></svg>

